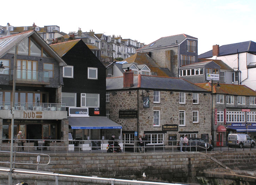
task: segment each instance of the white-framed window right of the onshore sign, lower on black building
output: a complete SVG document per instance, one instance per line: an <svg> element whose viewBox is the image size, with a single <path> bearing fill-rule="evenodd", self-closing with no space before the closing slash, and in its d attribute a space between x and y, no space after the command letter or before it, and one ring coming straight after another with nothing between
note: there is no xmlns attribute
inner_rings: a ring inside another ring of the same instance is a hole
<svg viewBox="0 0 256 185"><path fill-rule="evenodd" d="M99 94L81 93L81 107L99 107Z"/></svg>

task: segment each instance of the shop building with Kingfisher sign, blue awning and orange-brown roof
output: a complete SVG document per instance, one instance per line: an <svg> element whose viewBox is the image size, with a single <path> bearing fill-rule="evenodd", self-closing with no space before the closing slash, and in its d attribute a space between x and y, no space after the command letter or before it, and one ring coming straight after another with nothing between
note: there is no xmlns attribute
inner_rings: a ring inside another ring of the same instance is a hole
<svg viewBox="0 0 256 185"><path fill-rule="evenodd" d="M196 84L213 92L213 138L216 146L226 145L231 133L256 138L256 92L245 85Z"/></svg>

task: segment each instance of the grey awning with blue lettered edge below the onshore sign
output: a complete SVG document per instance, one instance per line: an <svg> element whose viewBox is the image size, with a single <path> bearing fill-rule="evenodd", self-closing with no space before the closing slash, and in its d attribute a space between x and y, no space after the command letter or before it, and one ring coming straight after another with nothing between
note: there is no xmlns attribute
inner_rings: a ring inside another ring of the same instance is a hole
<svg viewBox="0 0 256 185"><path fill-rule="evenodd" d="M68 117L71 129L122 129L107 117Z"/></svg>

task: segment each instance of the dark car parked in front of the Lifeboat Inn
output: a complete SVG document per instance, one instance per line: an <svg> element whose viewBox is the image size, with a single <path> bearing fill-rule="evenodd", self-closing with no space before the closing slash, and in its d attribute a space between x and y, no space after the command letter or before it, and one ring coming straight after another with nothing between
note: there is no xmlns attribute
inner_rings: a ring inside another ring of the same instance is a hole
<svg viewBox="0 0 256 185"><path fill-rule="evenodd" d="M178 151L181 151L180 142L178 142ZM205 147L206 143L206 147ZM183 143L182 150L185 151L185 143ZM201 138L188 138L188 145L187 145L187 151L195 152L195 151L205 151L205 148L207 148L207 151L211 151L213 149L212 144L209 144L205 142L205 140L202 140ZM191 150L190 150L191 149Z"/></svg>

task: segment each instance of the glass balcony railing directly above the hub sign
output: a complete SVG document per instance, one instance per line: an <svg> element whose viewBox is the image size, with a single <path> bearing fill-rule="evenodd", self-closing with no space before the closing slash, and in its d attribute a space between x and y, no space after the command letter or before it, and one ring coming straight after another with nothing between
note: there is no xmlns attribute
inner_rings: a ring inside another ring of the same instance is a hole
<svg viewBox="0 0 256 185"><path fill-rule="evenodd" d="M12 102L0 101L0 110L10 110L12 107L21 111L66 111L66 104L15 102L12 106Z"/></svg>

